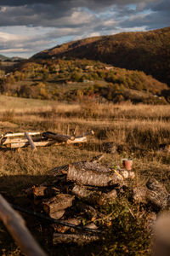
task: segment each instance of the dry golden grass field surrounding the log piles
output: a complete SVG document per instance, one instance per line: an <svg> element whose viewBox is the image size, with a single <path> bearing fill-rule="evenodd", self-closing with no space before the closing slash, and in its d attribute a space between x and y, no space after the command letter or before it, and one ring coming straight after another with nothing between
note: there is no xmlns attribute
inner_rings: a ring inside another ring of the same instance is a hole
<svg viewBox="0 0 170 256"><path fill-rule="evenodd" d="M76 127L80 134L88 130L94 130L95 133L94 137L88 137L88 143L82 145L37 148L36 152L32 152L31 148L22 148L20 151L0 150L0 193L8 201L22 207L29 206L23 189L40 184L47 178L53 179L49 170L55 166L92 159L94 155L101 153L104 142L116 143L117 151L114 154L105 153L102 163L109 166L121 165L122 158L131 157L136 174L133 185L146 183L149 177L156 177L170 192L170 148L169 151L168 148L167 151L159 150L161 143L170 144L169 105L113 105L92 102L64 104L8 96L0 96L0 105L2 134L7 131L54 131L66 134L68 127L71 135ZM149 255L149 241L142 226L146 212L140 212L138 207L133 206L128 206L127 212L119 211L120 218L117 218L117 223L118 219L122 219L120 223L122 221L122 225L127 225L124 232L130 232L131 229L134 231L133 233L131 230L131 242L125 236L122 236L123 240L121 235L116 234L112 242L109 241L102 248L99 245L53 248L48 243L48 235L45 238L39 235L43 233L39 221L36 220L35 223L34 218L23 216L32 234L38 238L48 255L78 255L77 252L82 255ZM132 223L129 223L132 219ZM116 223L113 221L112 224ZM15 245L2 224L0 251L1 255L21 255L20 248Z"/></svg>

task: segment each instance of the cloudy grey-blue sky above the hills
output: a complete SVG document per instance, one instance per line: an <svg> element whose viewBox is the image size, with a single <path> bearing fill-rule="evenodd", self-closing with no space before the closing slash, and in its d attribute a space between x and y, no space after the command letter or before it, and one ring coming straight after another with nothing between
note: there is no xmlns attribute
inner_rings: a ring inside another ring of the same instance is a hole
<svg viewBox="0 0 170 256"><path fill-rule="evenodd" d="M0 0L0 54L29 57L71 40L165 26L169 0Z"/></svg>

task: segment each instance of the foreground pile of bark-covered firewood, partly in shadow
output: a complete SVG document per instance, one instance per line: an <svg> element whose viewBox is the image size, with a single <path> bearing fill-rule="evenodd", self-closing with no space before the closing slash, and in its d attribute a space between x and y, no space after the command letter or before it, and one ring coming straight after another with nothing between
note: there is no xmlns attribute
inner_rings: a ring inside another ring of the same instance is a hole
<svg viewBox="0 0 170 256"><path fill-rule="evenodd" d="M53 182L26 189L26 195L33 199L34 212L55 219L50 225L54 245L99 240L103 230L98 227L98 219L105 218L99 207L115 203L125 179L134 177L131 171L126 171L129 176L123 177L121 170L99 164L101 158L99 155L90 161L55 167L50 171Z"/></svg>

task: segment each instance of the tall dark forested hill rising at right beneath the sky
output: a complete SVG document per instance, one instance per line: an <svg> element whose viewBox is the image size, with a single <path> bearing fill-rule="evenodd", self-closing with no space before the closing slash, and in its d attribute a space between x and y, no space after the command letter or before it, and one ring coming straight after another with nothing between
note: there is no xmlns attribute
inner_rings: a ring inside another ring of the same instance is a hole
<svg viewBox="0 0 170 256"><path fill-rule="evenodd" d="M44 50L31 60L52 57L87 58L140 70L170 85L170 27L86 38Z"/></svg>

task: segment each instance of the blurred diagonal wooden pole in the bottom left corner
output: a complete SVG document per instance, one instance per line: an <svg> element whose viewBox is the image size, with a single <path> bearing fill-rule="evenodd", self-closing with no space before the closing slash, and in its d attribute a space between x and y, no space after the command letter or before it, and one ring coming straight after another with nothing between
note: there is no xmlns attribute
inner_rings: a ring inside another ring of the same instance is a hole
<svg viewBox="0 0 170 256"><path fill-rule="evenodd" d="M28 256L46 255L27 230L23 218L9 206L2 195L0 195L0 218L24 254Z"/></svg>

